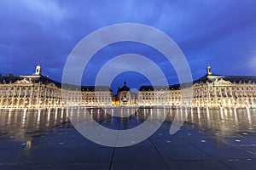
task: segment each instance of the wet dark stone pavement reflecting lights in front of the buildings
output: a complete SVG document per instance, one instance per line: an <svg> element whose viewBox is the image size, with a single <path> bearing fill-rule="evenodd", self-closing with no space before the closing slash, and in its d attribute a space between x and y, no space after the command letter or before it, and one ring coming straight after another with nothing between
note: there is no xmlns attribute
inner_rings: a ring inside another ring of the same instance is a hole
<svg viewBox="0 0 256 170"><path fill-rule="evenodd" d="M2 111L0 169L256 169L255 110L192 111L173 135L178 111L167 112L148 139L113 148L85 139L65 111ZM147 118L134 114L124 123L97 116L113 128Z"/></svg>

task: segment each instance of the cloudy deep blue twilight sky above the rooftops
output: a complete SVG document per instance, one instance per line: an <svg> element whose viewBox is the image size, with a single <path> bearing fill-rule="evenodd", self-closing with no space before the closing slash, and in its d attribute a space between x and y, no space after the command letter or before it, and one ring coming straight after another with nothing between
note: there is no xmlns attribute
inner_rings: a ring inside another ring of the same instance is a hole
<svg viewBox="0 0 256 170"><path fill-rule="evenodd" d="M206 73L207 65L218 74L256 75L255 7L256 2L250 0L3 0L0 73L31 74L39 63L43 75L61 82L67 57L82 38L103 26L132 22L153 26L172 37L188 60L194 79ZM102 48L91 59L85 70L90 74L84 73L82 83L94 84L104 62L126 53L153 59L168 82L177 83L172 65L167 65L158 51L135 42ZM113 90L124 80L131 88L147 83L142 75L125 72L114 79Z"/></svg>

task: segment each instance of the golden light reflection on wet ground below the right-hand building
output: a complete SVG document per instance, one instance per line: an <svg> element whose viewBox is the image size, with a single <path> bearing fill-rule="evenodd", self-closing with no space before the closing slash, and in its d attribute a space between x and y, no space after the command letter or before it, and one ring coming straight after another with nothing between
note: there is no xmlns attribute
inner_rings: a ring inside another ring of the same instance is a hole
<svg viewBox="0 0 256 170"><path fill-rule="evenodd" d="M256 127L255 114L256 111L251 109L219 108L192 111L188 114L186 120L191 126L198 129L210 130L219 136L230 137L235 134L247 135L247 133L254 133ZM185 115L184 111L183 115Z"/></svg>

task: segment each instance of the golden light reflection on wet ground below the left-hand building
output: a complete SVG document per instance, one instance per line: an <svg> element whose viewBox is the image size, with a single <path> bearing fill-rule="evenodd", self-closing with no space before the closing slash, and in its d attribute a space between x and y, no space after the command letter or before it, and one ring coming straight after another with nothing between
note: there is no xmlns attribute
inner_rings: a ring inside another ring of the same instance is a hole
<svg viewBox="0 0 256 170"><path fill-rule="evenodd" d="M44 111L12 110L0 112L0 132L2 139L22 142L26 149L32 147L34 139L40 139L45 133L68 122L65 109Z"/></svg>

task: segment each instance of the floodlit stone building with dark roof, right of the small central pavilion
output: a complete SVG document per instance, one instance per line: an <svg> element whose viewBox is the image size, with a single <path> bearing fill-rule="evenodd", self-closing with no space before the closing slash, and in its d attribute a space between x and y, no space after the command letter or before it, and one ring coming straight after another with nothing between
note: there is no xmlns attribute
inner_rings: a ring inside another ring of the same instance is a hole
<svg viewBox="0 0 256 170"><path fill-rule="evenodd" d="M193 82L191 107L253 107L256 108L256 77L222 76L212 73L207 66L207 74ZM137 96L137 105L184 106L179 84L168 87L142 86Z"/></svg>

